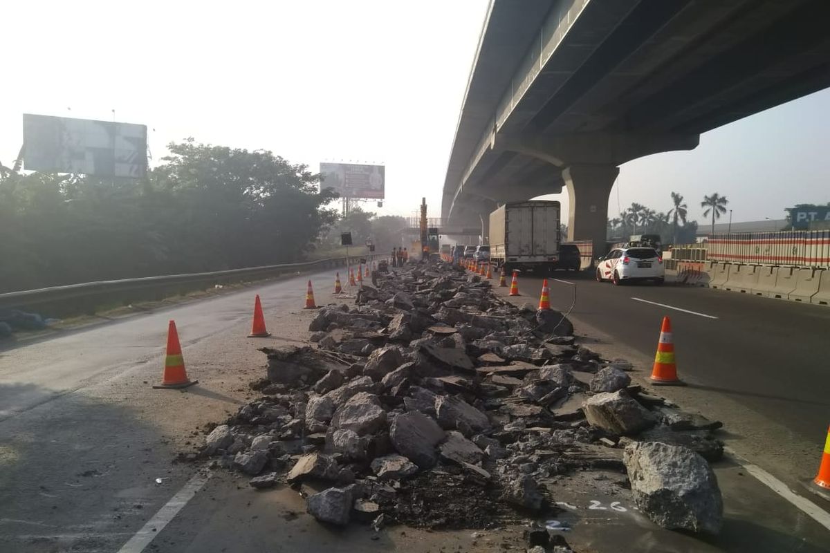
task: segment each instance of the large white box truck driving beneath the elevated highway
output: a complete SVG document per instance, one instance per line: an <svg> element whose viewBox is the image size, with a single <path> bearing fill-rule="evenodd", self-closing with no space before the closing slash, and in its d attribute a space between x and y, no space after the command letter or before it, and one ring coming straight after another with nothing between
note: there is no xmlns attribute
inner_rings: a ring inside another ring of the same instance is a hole
<svg viewBox="0 0 830 553"><path fill-rule="evenodd" d="M505 272L547 274L559 260L559 201L516 201L490 214L490 259Z"/></svg>

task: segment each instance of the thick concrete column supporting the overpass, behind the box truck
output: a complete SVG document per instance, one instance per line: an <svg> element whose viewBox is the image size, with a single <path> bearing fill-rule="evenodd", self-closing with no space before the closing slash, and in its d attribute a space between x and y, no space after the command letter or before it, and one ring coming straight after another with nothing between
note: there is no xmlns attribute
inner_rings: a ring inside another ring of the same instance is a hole
<svg viewBox="0 0 830 553"><path fill-rule="evenodd" d="M562 172L568 188L568 240L591 240L593 259L605 250L608 195L619 174L615 165L572 165Z"/></svg>

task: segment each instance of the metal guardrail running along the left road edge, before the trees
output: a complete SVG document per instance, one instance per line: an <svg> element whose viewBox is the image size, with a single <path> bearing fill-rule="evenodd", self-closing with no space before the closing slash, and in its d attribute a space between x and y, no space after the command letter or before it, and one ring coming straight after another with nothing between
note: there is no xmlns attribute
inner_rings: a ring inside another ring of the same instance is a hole
<svg viewBox="0 0 830 553"><path fill-rule="evenodd" d="M360 259L374 261L386 257L388 256L383 254L358 255L349 257L349 260L355 264L355 261ZM94 311L95 307L103 303L129 303L139 298L160 300L168 295L199 289L198 285L201 284L231 284L232 282L267 279L305 270L343 267L346 263L345 257L337 257L304 263L263 265L209 273L168 274L139 279L67 284L66 286L0 293L0 308L38 308L41 311L48 311L50 315L70 312L90 313L90 309Z"/></svg>

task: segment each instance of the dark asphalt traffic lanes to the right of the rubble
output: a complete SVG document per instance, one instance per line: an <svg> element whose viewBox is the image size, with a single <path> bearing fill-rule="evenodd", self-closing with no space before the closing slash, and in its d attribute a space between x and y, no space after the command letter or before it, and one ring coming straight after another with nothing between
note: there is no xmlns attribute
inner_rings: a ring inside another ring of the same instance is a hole
<svg viewBox="0 0 830 553"><path fill-rule="evenodd" d="M520 276L527 301L538 302L541 286ZM669 316L689 386L656 393L724 420L736 451L791 485L815 476L830 423L830 308L679 285L614 286L582 273L555 274L549 286L553 308L576 298L577 332L597 337L598 350L604 342L634 357L642 377Z"/></svg>

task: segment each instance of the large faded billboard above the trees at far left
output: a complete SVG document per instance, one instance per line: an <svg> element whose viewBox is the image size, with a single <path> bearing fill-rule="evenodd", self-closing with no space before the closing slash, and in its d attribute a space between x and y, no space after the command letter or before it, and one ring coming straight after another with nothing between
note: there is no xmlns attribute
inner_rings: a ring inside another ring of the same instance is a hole
<svg viewBox="0 0 830 553"><path fill-rule="evenodd" d="M144 177L147 126L23 114L23 168L95 177Z"/></svg>

